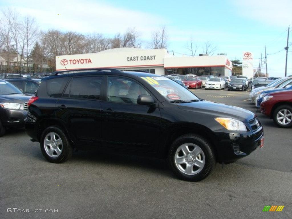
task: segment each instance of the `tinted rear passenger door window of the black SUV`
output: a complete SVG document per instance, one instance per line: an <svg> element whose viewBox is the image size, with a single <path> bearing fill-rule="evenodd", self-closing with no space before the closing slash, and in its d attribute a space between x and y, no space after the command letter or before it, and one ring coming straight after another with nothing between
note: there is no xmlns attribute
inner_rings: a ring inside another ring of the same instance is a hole
<svg viewBox="0 0 292 219"><path fill-rule="evenodd" d="M100 100L101 85L102 77L73 78L70 98Z"/></svg>

